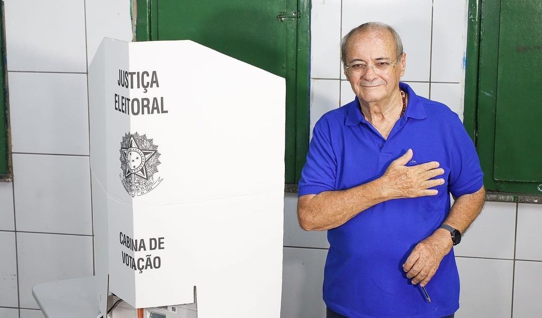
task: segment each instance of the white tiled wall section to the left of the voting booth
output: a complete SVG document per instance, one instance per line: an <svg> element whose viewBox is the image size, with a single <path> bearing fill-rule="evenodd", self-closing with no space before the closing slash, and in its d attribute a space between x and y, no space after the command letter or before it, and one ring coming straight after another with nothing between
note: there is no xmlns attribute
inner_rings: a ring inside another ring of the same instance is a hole
<svg viewBox="0 0 542 318"><path fill-rule="evenodd" d="M0 318L43 318L40 283L93 274L87 65L131 41L131 1L5 0L13 182L0 182Z"/></svg>

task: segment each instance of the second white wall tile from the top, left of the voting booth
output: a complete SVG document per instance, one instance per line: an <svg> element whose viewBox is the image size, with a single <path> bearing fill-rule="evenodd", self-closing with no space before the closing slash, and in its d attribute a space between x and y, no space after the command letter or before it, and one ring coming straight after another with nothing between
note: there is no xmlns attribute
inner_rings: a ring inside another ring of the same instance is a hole
<svg viewBox="0 0 542 318"><path fill-rule="evenodd" d="M14 152L88 155L86 74L10 72L8 87Z"/></svg>

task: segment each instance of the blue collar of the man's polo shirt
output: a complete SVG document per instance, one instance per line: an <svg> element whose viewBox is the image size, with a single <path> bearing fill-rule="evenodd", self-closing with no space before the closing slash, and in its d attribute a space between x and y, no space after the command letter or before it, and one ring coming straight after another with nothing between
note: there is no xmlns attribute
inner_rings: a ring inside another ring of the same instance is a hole
<svg viewBox="0 0 542 318"><path fill-rule="evenodd" d="M408 105L406 107L405 116L413 119L423 119L427 117L425 110L423 109L422 100L414 91L412 91L412 88L403 82L399 82L399 87L408 94ZM346 126L357 126L359 123L365 122L357 96L351 103L343 107L348 107L346 110Z"/></svg>

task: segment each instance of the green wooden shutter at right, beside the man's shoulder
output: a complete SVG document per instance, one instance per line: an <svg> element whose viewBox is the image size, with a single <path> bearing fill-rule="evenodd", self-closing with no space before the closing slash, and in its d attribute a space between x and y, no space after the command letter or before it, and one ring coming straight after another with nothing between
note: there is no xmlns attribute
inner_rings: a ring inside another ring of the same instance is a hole
<svg viewBox="0 0 542 318"><path fill-rule="evenodd" d="M540 0L469 1L464 118L488 190L542 194L540 17Z"/></svg>

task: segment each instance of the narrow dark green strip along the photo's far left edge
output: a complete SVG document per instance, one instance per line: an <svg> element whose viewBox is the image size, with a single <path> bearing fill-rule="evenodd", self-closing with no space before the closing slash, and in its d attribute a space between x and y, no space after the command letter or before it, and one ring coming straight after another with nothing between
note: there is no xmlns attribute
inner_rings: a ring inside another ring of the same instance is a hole
<svg viewBox="0 0 542 318"><path fill-rule="evenodd" d="M0 181L11 181L7 73L5 72L4 2L0 5Z"/></svg>

